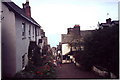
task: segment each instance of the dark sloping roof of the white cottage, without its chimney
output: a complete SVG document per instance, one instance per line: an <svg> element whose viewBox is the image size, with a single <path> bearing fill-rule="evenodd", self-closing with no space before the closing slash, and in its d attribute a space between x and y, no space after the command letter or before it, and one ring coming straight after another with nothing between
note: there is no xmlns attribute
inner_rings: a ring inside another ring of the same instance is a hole
<svg viewBox="0 0 120 80"><path fill-rule="evenodd" d="M36 25L37 27L41 27L32 17L27 17L23 9L17 6L14 2L2 2L5 4L9 10L13 11L15 14L20 15L22 18Z"/></svg>

